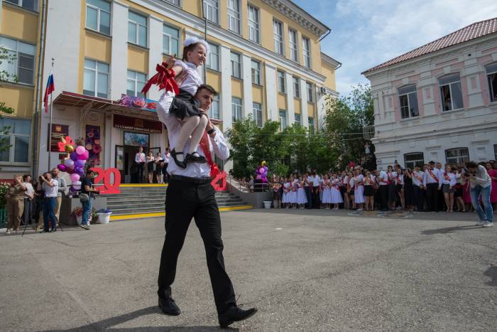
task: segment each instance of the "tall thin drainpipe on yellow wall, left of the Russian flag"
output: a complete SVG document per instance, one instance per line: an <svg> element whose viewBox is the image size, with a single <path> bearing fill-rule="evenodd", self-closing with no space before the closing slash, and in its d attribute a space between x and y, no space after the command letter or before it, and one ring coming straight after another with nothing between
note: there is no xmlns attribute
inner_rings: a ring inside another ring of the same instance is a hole
<svg viewBox="0 0 497 332"><path fill-rule="evenodd" d="M41 26L40 26L40 47L38 48L38 77L36 78L36 105L35 105L35 124L33 135L33 178L38 174L38 117L40 117L40 87L43 80L43 58L45 58L45 26L46 26L46 7L47 1L42 1L41 9Z"/></svg>

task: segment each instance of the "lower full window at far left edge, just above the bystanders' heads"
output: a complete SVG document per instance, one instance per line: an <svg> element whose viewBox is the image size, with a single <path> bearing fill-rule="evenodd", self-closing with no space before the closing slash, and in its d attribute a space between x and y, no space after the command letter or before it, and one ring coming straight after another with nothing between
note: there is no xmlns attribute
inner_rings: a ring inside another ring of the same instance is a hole
<svg viewBox="0 0 497 332"><path fill-rule="evenodd" d="M0 162L28 163L31 121L4 117L0 127L9 127L7 144L9 149L0 151Z"/></svg>

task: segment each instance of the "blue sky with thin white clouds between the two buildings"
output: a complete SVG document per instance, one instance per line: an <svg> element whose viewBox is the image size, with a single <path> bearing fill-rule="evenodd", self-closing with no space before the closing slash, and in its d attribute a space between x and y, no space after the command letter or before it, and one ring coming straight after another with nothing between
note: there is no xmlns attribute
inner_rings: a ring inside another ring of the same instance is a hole
<svg viewBox="0 0 497 332"><path fill-rule="evenodd" d="M364 70L464 26L497 17L496 0L293 0L332 29L321 51L342 63L337 91L368 83Z"/></svg>

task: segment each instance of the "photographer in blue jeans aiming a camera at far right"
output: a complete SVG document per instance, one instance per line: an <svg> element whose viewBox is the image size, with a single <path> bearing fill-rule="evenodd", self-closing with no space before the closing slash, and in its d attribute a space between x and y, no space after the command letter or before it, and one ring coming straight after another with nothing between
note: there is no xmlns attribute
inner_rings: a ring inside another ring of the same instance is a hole
<svg viewBox="0 0 497 332"><path fill-rule="evenodd" d="M469 161L466 164L468 168L468 180L471 186L471 204L473 205L476 213L480 218L480 222L477 226L492 227L493 226L493 209L490 203L490 191L492 180L486 168L475 161ZM481 195L481 200L484 203L485 211L481 208L479 203L479 197Z"/></svg>

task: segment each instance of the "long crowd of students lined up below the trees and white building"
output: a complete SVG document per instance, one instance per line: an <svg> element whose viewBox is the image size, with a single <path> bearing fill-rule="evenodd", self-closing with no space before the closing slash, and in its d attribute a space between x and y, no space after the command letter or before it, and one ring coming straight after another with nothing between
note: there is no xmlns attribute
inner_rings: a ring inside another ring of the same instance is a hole
<svg viewBox="0 0 497 332"><path fill-rule="evenodd" d="M476 176L477 172L481 173L480 177ZM495 161L480 164L469 162L455 166L442 166L441 163L430 161L429 164L415 166L414 169L403 168L395 162L386 171L348 166L342 172L329 171L324 174L316 171L302 175L294 173L290 176L273 174L268 188L273 193L274 208L453 213L474 210L479 212L480 203L486 203L486 191L473 197L476 205L472 203L471 196L477 186L486 188L487 182L488 200L493 205L493 210L496 210ZM248 185L253 188L253 178L248 181Z"/></svg>

